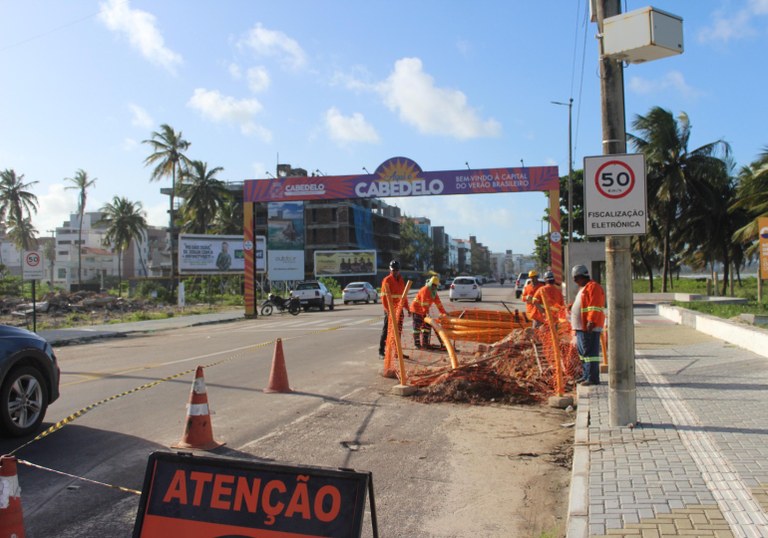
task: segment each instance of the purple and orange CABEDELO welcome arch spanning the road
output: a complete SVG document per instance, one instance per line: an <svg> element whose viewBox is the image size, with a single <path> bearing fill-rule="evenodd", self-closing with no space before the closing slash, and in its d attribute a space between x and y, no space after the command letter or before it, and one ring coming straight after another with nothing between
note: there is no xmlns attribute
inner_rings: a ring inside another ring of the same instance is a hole
<svg viewBox="0 0 768 538"><path fill-rule="evenodd" d="M373 174L293 176L251 179L243 185L245 248L245 315L256 313L254 204L353 198L392 198L449 194L549 193L549 252L555 278L562 282L560 248L560 177L557 166L524 166L426 172L407 157L392 157Z"/></svg>

